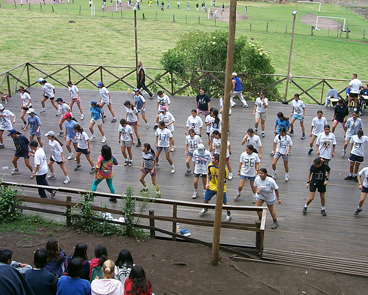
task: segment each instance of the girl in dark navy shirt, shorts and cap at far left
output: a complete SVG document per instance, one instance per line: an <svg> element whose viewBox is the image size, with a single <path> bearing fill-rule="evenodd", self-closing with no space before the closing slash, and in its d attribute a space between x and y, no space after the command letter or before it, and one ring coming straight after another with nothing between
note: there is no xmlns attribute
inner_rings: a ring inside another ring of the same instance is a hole
<svg viewBox="0 0 368 295"><path fill-rule="evenodd" d="M28 155L28 153L29 153L29 148L28 148L29 140L26 138L26 136L22 135L22 133L18 132L15 129L9 130L8 136L10 136L13 139L14 146L15 146L15 153L14 153L13 160L12 160L12 163L14 165L14 169L11 172L11 175L14 175L14 174L19 172L17 162L18 162L18 159L20 157L24 158L24 162L25 162L27 168L33 174L33 167L29 163L29 155Z"/></svg>

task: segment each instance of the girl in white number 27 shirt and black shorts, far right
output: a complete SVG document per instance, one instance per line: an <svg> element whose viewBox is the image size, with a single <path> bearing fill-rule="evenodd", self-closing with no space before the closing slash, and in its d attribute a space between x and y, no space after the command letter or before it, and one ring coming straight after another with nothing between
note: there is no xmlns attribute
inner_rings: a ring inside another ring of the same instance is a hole
<svg viewBox="0 0 368 295"><path fill-rule="evenodd" d="M358 182L358 171L361 163L364 162L364 145L368 142L368 136L364 135L362 129L359 129L356 135L351 137L350 143L350 171L349 175L345 177L345 180L353 179ZM355 169L354 169L355 166Z"/></svg>

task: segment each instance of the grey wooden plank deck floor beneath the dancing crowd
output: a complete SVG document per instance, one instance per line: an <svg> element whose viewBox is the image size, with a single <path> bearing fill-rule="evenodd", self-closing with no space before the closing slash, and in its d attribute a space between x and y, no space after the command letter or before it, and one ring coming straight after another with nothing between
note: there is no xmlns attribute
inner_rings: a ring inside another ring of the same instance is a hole
<svg viewBox="0 0 368 295"><path fill-rule="evenodd" d="M41 110L41 89L31 88L29 89L33 99L33 106L37 113ZM55 97L68 98L67 89L56 89ZM84 127L86 132L88 131L89 123L89 101L92 99L98 100L98 90L80 90L80 96L82 98L82 106L85 113L85 119L79 121ZM131 94L127 92L112 92L113 108L118 118L125 118L125 110L123 103L125 100L131 98ZM195 107L195 98L193 97L170 97L171 106L170 111L176 118L175 122L175 143L176 151L171 153L173 158L176 172L175 174L170 173L170 166L167 161L164 160L163 155L160 157L160 167L158 169L158 184L162 191L162 198L165 199L176 199L184 201L192 201L191 195L193 193L193 176L184 176L185 172L185 156L184 156L184 128L186 118L190 115L190 110ZM66 99L68 101L68 99ZM15 128L20 129L22 122L19 118L20 99L19 95L14 95L6 106L7 109L12 110L17 116L17 123ZM46 133L49 130L58 132L58 118L55 117L55 110L51 106L50 102L46 102L47 112L39 114L39 118L42 122L42 132ZM212 100L211 106L218 107L218 100ZM153 126L156 118L156 107L157 102L154 100L147 100L147 113L146 116L151 125L150 129L145 129L143 120L140 120L141 127L139 133L142 143L149 142L151 145L155 143L155 136ZM316 115L316 111L322 109L324 116L331 122L333 116L332 108L325 108L321 106L307 105L306 106L306 134L309 135L310 124L312 119ZM277 112L284 112L286 116L289 116L291 111L290 105L283 105L281 103L271 102L268 107L268 117L266 120L266 137L263 139L263 158L261 161L261 167L265 167L268 171L271 171L272 157L269 156L272 150L273 140L273 126L276 119ZM118 133L117 127L118 122L110 123L111 115L107 108L105 110L107 116L106 123L104 124L104 130L107 137L107 144L111 146L113 153L117 156L120 161L120 165L114 168L114 186L116 192L124 191L128 185L132 185L136 190L141 188L139 182L139 168L141 166L141 148L133 147L133 163L132 167L124 167L122 154L120 152L120 146L118 144ZM244 151L244 147L240 145L243 136L246 133L247 128L254 127L254 117L252 117L253 104L250 103L248 109L243 109L241 103L237 103L237 106L233 108L233 114L231 116L231 135L229 141L232 144L233 155L231 156L231 164L233 166L233 172L237 171L238 159L240 153ZM74 115L79 118L79 111L75 107ZM203 118L203 117L202 117ZM367 117L362 117L365 126L368 124ZM332 123L332 122L331 122ZM316 196L315 201L308 208L308 214L303 216L301 210L305 204L306 199L309 196L309 191L305 187L308 169L312 164L316 154L313 152L312 155L308 155L309 138L305 140L300 139L301 130L298 122L295 122L295 135L292 136L293 148L291 149L291 158L289 161L290 168L290 180L288 183L283 181L284 170L282 161L278 163L278 176L276 182L280 186L280 196L282 199L281 205L275 205L277 217L280 226L276 230L271 230L270 226L272 220L270 215L267 216L268 221L266 225L265 234L265 248L272 252L272 249L285 250L285 251L299 251L309 252L318 255L324 253L340 254L346 258L362 257L366 256L366 245L368 242L368 210L363 208L363 212L358 216L354 216L353 212L356 209L359 201L360 191L358 185L353 181L345 181L343 178L348 173L349 162L347 157L341 157L342 145L343 145L343 132L342 127L339 126L335 132L337 138L336 156L330 162L332 169L329 186L326 193L326 212L327 216L322 217L320 214L320 203L319 198ZM97 156L100 153L101 147L101 135L98 132L97 127L95 128L97 140L91 143L92 158L96 161ZM28 134L28 132L26 132ZM134 135L135 138L135 135ZM206 137L204 137L206 138ZM14 147L9 137L4 137L5 148L0 151L1 155L1 166L12 166L11 157L14 153ZM46 137L43 137L44 143L47 142ZM207 142L207 141L206 141ZM48 145L46 143L45 150L49 153ZM66 148L64 147L64 151ZM69 175L72 181L68 184L70 187L91 187L92 177L89 175L89 165L85 158L81 158L82 168L78 172L74 172L73 168L75 162L67 161L66 167L69 171ZM59 168L55 167L56 179L50 180L51 185L63 186L62 181L64 177ZM362 168L366 164L362 165ZM4 180L19 181L19 182L35 182L29 178L29 171L26 169L24 163L19 162L20 173L17 176L11 176L10 170L5 170ZM271 171L272 172L272 171ZM236 175L236 173L234 173ZM150 178L147 177L148 183ZM235 203L233 197L237 193L237 185L239 178L235 176L233 180L228 181L228 198L232 205L248 205L252 206L250 198L250 187L246 183L243 189L242 197ZM108 192L106 184L103 182L99 185L98 190ZM200 191L201 192L201 191ZM57 198L63 198L63 196L56 196ZM77 200L77 197L76 197ZM214 200L213 200L214 201ZM96 200L96 202L102 202L102 200ZM199 197L194 202L203 202L202 198ZM214 203L214 202L212 202ZM367 205L366 205L367 206ZM119 208L119 203L108 204L108 207ZM160 207L157 204L152 205L157 213L171 214L171 208ZM178 216L185 215L189 218L205 218L213 219L214 212L209 212L207 216L200 217L197 210L183 210L179 207ZM240 215L233 212L233 221L253 221L256 216L253 215ZM160 224L160 223L157 223ZM166 229L171 229L170 223L162 223L162 226ZM212 241L212 229L198 228L195 226L184 226L190 230L193 237L201 238L207 241ZM234 230L223 229L221 233L221 242L228 244L237 245L249 245L254 243L255 236L251 233L235 232Z"/></svg>

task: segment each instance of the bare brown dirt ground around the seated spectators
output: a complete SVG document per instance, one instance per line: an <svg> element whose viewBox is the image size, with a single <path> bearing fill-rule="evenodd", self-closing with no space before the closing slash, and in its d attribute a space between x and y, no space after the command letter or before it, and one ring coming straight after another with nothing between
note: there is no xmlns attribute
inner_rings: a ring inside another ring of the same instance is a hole
<svg viewBox="0 0 368 295"><path fill-rule="evenodd" d="M115 261L120 250L131 251L134 263L141 265L156 295L232 294L232 295L355 295L367 294L366 278L318 271L306 267L279 266L261 262L240 262L221 252L219 266L211 266L211 249L206 246L158 239L102 237L78 234L73 230L40 228L38 235L9 232L0 235L0 248L13 250L17 262L32 264L33 253L45 247L50 237L59 241L67 255L79 242L93 249L105 244ZM181 264L175 264L181 263Z"/></svg>

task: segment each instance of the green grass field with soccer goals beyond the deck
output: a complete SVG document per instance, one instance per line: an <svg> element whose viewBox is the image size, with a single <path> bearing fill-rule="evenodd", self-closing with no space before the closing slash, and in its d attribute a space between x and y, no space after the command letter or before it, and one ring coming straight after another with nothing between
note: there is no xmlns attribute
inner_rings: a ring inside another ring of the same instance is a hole
<svg viewBox="0 0 368 295"><path fill-rule="evenodd" d="M103 13L102 1L94 2L95 16L91 16L87 0L75 0L74 4L71 1L67 5L42 5L42 11L39 4L31 5L31 9L27 5L17 5L15 9L14 4L1 1L0 72L25 61L134 66L133 10L120 11L118 8L118 12L110 10ZM146 67L161 67L159 60L162 51L175 46L179 36L188 30L228 29L227 22L217 21L215 24L213 20L207 20L207 14L201 8L197 12L197 1L189 1L190 11L184 7L187 1L182 1L181 9L176 8L176 1L170 2L171 9L167 10L167 1L164 1L164 12L157 10L156 3L148 7L146 1L137 11L138 55ZM228 6L228 1L223 2ZM221 5L222 1L216 4ZM106 10L111 9L109 5L107 1ZM127 4L123 2L122 5ZM291 12L296 8L296 3L272 5L268 2L238 1L238 13L244 15L245 6L248 7L248 19L237 22L237 34L245 34L261 43L270 54L276 73L286 74ZM143 13L145 19L142 18ZM336 37L336 31L330 31L328 36L327 30L314 31L312 36L311 26L300 22L300 17L308 13L346 18L346 27L351 30L349 38L344 32L342 37ZM75 23L69 23L70 20ZM285 33L286 26L288 30ZM363 59L367 52L367 41L363 39L365 29L368 31L368 23L343 7L322 4L321 12L318 12L318 5L298 3L292 75L350 79L351 73L357 72L359 78L367 80L363 75L366 69ZM115 88L119 87L122 86ZM336 88L339 87L343 84L337 83Z"/></svg>

